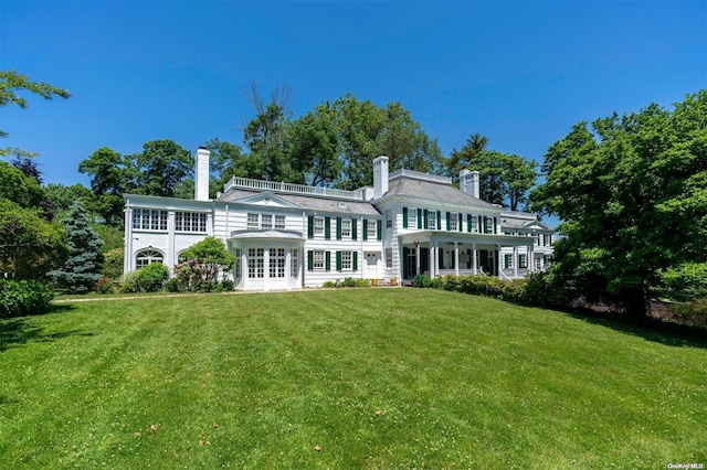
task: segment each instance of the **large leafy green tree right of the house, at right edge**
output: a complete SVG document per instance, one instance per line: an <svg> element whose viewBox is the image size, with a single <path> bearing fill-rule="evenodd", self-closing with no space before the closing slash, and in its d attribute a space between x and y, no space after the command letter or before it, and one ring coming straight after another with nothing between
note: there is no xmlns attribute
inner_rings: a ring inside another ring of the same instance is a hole
<svg viewBox="0 0 707 470"><path fill-rule="evenodd" d="M673 111L585 122L552 145L534 209L557 215L553 276L587 298L615 298L634 317L659 271L707 259L707 90Z"/></svg>

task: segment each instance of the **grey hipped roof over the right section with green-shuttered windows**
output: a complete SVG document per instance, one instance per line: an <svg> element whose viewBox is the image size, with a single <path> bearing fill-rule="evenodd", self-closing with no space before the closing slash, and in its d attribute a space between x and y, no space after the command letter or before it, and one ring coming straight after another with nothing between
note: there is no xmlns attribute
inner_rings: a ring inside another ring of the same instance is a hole
<svg viewBox="0 0 707 470"><path fill-rule="evenodd" d="M389 182L388 192L376 202L395 196L413 197L421 202L469 205L498 211L500 207L466 194L451 184L423 181L413 178L398 178Z"/></svg>

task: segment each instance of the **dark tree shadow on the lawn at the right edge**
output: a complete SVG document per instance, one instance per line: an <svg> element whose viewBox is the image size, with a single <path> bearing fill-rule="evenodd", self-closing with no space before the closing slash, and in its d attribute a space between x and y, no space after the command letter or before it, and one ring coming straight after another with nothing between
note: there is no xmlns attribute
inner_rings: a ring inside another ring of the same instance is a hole
<svg viewBox="0 0 707 470"><path fill-rule="evenodd" d="M698 327L671 323L654 318L632 321L619 313L599 314L585 311L564 311L564 313L588 323L600 324L624 334L668 346L707 349L707 330Z"/></svg>

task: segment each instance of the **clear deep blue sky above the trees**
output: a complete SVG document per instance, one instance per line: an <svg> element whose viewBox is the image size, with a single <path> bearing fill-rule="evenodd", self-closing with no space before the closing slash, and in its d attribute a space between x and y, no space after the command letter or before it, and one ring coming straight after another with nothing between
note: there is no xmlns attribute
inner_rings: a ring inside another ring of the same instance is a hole
<svg viewBox="0 0 707 470"><path fill-rule="evenodd" d="M481 132L538 161L582 120L707 87L706 1L0 3L0 68L67 88L1 109L1 147L88 185L101 147L242 143L244 92L292 87L295 117L346 92L400 102L445 156Z"/></svg>

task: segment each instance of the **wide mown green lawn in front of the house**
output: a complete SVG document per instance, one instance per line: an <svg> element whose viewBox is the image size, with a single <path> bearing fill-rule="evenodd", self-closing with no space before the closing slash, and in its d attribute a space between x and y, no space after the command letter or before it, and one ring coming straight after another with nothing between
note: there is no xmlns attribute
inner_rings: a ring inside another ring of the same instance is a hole
<svg viewBox="0 0 707 470"><path fill-rule="evenodd" d="M0 378L3 469L707 464L705 344L432 289L62 303Z"/></svg>

